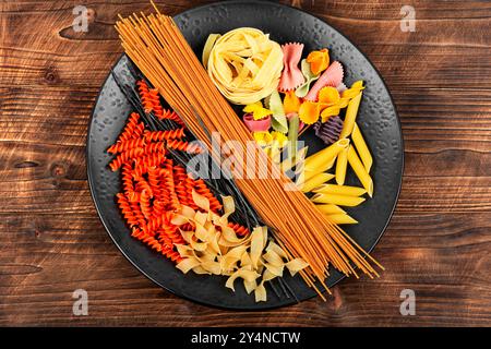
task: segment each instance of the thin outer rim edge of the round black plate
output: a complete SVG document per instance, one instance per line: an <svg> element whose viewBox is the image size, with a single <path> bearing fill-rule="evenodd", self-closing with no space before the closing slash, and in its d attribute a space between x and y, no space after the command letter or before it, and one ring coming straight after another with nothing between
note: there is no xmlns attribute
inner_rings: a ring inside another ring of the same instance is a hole
<svg viewBox="0 0 491 349"><path fill-rule="evenodd" d="M264 4L265 2L267 2L268 5L272 7L277 7L277 8L289 8L292 9L295 11L299 11L302 12L303 14L310 15L312 17L315 17L316 20L323 22L324 24L326 24L327 26L330 26L331 28L333 28L335 32L337 32L337 34L339 34L344 39L346 39L356 50L358 50L358 52L367 60L367 62L371 65L371 68L375 71L376 75L380 77L383 86L385 87L385 89L387 91L388 94L388 98L391 101L392 107L394 108L394 113L396 116L396 123L398 127L398 131L400 134L400 178L398 181L398 185L397 185L397 191L396 191L396 195L395 195L395 201L394 201L394 205L390 212L388 218L383 227L383 229L381 230L381 232L379 233L379 237L376 238L376 240L373 242L373 245L367 250L367 253L371 253L376 245L379 244L380 240L382 239L382 237L385 234L388 225L392 221L392 218L394 216L394 212L397 207L398 201L399 201L399 196L400 196L400 192L402 192L402 188L403 188L403 178L404 178L404 170L405 170L405 146L404 146L404 133L403 133L403 127L402 127L402 122L400 122L400 118L399 118L399 113L397 111L397 107L396 104L394 103L394 98L392 96L391 91L387 87L387 84L383 77L383 75L380 73L379 69L372 63L372 61L367 57L367 55L360 50L358 48L357 45L355 45L351 39L346 36L342 31L339 31L336 26L332 25L331 23L327 23L324 19L322 19L321 16L313 14L307 10L300 9L300 8L296 8L292 7L290 4L284 4L284 3L279 3L279 2L271 2L271 1L264 1L264 0L229 0L229 1L215 1L215 2L211 2L211 3L205 3L205 4L201 4L197 7L193 7L190 9L187 9L184 11L181 11L175 15L172 15L172 19L175 19L176 16L179 15L183 15L183 14L190 14L194 11L199 11L202 9L206 9L209 7L214 7L214 5L227 5L227 4L237 4L237 3L247 3L247 4L254 4L254 3L261 3ZM149 279L152 282L154 282L156 286L165 289L166 291L170 292L171 294L180 298L180 299L185 299L189 300L191 302L194 302L196 304L201 304L204 306L208 306L208 308L214 308L214 309L221 309L221 310L228 310L228 311L242 311L242 312L256 312L256 311L267 311L267 310L274 310L274 309L280 309L280 308L285 308L285 306L289 306L296 303L301 303L303 301L308 301L311 300L313 298L316 297L316 294L304 298L303 300L300 300L300 302L297 302L295 299L292 299L291 301L287 301L284 304L276 304L276 305L264 305L264 306L260 306L260 308L243 308L243 306L221 306L219 304L209 304L206 303L205 301L200 300L199 298L193 298L190 296L184 296L184 294L180 294L178 292L176 292L175 290L166 287L165 285L161 285L159 281L157 281L155 278L153 278L152 276L149 276L145 270L143 270L135 262L132 261L132 258L123 251L123 249L117 243L116 239L112 237L112 233L110 232L110 229L108 227L108 225L106 224L105 219L103 219L101 216L101 208L99 207L99 204L97 203L96 200L96 195L95 195L95 179L92 174L91 171L91 161L89 161L89 154L88 154L88 149L89 149L89 135L91 135L91 129L92 129L92 123L93 123L93 119L94 119L94 115L96 111L96 106L97 103L100 98L100 94L103 92L104 86L106 85L106 83L109 81L109 79L111 77L111 71L119 64L119 62L121 61L121 59L123 59L127 55L124 52L122 52L118 59L115 61L115 63L111 65L109 73L107 74L106 79L104 80L104 82L100 84L100 87L98 89L98 93L96 95L96 98L94 99L94 106L91 110L91 116L88 118L88 123L87 123L87 133L86 133L86 140L85 140L85 166L86 166L86 174L87 174L87 182L88 182L88 189L91 192L91 197L92 201L94 203L94 207L97 212L97 216L99 218L99 221L103 224L106 233L109 236L109 238L111 239L112 243L118 248L118 250L121 252L121 254L124 256L124 258L131 263L131 265L133 265L136 270L139 270L143 276L145 276L147 279ZM339 279L337 279L336 281L333 282L332 286L330 286L330 288L333 288L334 286L336 286L338 282L340 282L342 280L344 280L346 278L346 275L342 275L339 277ZM323 291L323 293L325 293L325 290Z"/></svg>

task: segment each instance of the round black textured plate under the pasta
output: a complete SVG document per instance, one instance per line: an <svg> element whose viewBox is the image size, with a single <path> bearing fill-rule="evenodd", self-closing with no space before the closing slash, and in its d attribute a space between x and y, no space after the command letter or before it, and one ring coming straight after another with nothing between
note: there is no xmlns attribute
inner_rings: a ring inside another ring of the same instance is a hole
<svg viewBox="0 0 491 349"><path fill-rule="evenodd" d="M358 124L373 153L374 197L359 207L349 209L357 226L347 227L347 232L358 243L371 251L387 226L400 190L403 173L403 137L399 120L391 95L382 77L370 61L338 31L320 19L290 7L262 1L227 1L195 8L178 14L178 25L195 50L197 57L211 33L225 33L236 27L251 26L271 33L272 39L284 44L303 43L304 52L323 47L330 48L333 60L345 67L345 83L363 80L367 88L360 106ZM115 71L123 81L129 81L128 59L123 56ZM130 83L132 83L130 81ZM181 274L172 263L154 253L146 245L131 238L115 203L120 190L119 172L111 172L107 165L110 157L107 147L115 142L131 111L130 104L109 75L104 83L89 122L87 137L88 182L97 212L109 236L117 246L149 279L180 297L227 309L260 310L288 305L291 298L277 298L270 290L268 301L255 303L240 285L237 292L225 288L225 278ZM306 132L310 151L322 147L319 139ZM355 181L352 177L349 181ZM376 257L376 253L375 253ZM338 282L343 276L332 272L327 286ZM299 277L286 277L299 300L315 293L306 287ZM240 282L237 282L240 284Z"/></svg>

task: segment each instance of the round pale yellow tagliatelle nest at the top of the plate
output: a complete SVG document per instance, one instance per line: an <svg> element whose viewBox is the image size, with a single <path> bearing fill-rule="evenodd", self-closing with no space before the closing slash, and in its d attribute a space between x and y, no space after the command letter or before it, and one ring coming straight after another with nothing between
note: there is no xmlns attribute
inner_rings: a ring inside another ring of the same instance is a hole
<svg viewBox="0 0 491 349"><path fill-rule="evenodd" d="M279 44L256 28L237 28L223 36L212 34L203 63L208 75L231 103L249 105L276 91L284 68Z"/></svg>

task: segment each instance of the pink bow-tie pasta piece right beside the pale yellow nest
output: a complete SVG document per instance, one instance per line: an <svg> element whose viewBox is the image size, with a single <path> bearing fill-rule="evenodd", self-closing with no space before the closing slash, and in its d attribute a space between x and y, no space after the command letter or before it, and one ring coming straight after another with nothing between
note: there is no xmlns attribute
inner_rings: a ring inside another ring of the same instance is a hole
<svg viewBox="0 0 491 349"><path fill-rule="evenodd" d="M284 69L279 80L278 91L287 92L297 88L306 82L306 77L298 68L302 58L303 44L285 44L282 46Z"/></svg>

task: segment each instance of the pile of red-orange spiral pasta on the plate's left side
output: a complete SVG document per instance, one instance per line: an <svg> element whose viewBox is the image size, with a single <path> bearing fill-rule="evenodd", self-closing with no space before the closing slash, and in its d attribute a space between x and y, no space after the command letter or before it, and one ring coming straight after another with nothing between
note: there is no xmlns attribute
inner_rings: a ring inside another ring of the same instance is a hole
<svg viewBox="0 0 491 349"><path fill-rule="evenodd" d="M144 81L137 86L142 103L147 108L152 107L156 116L182 124L173 111L159 109L159 98ZM166 156L168 147L191 153L202 151L197 144L184 141L184 127L168 131L145 130L140 116L132 113L118 141L107 149L115 155L109 168L121 170L122 188L116 202L131 228L131 236L175 263L183 260L176 245L188 243L180 229L192 231L195 227L191 224L173 225L173 213L182 205L200 209L193 201L194 190L209 198L213 210L221 209L220 202L203 180L195 181L183 166L175 165ZM249 230L239 224L230 222L229 226L238 237L249 234Z"/></svg>

